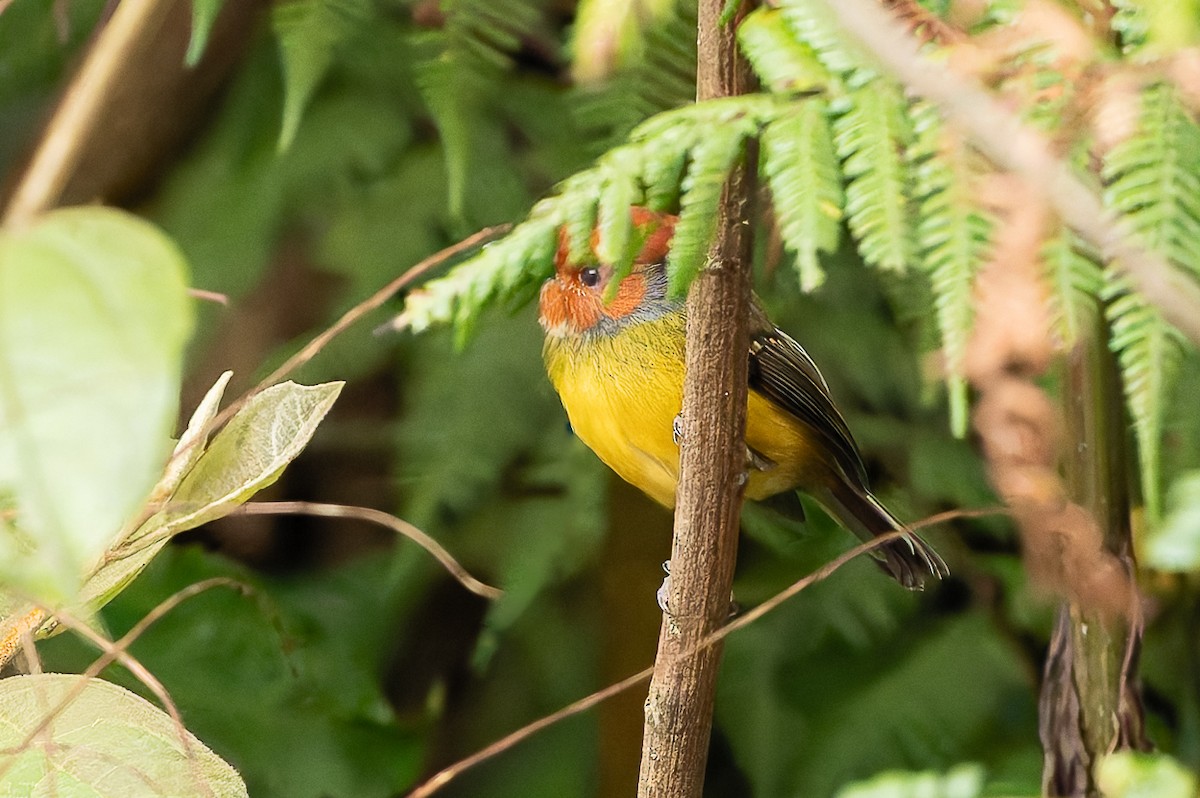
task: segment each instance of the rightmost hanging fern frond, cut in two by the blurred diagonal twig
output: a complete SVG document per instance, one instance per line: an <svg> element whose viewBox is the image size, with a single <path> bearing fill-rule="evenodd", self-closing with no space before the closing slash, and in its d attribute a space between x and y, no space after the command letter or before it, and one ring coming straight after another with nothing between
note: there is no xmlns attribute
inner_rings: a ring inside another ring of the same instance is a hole
<svg viewBox="0 0 1200 798"><path fill-rule="evenodd" d="M1104 199L1153 250L1200 274L1200 130L1177 90L1165 83L1142 92L1138 131L1105 157ZM1160 517L1160 437L1181 336L1158 310L1114 277L1106 296L1111 347L1124 378L1151 523Z"/></svg>

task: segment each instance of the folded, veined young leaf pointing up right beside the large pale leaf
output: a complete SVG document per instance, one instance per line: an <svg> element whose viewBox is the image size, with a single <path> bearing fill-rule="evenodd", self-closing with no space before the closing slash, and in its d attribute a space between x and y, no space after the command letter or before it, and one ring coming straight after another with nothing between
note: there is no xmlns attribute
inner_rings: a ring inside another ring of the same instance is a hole
<svg viewBox="0 0 1200 798"><path fill-rule="evenodd" d="M209 391L184 439L198 434L194 425L215 408L220 389L221 382ZM271 485L308 444L341 390L342 383L287 382L251 398L181 478L168 504L109 552L80 590L80 601L102 607L173 535L228 515Z"/></svg>

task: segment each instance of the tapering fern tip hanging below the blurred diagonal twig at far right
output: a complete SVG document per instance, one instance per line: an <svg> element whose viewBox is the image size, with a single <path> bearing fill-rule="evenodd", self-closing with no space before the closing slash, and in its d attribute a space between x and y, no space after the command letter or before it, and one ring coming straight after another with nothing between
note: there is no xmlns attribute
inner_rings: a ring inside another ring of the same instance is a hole
<svg viewBox="0 0 1200 798"><path fill-rule="evenodd" d="M1128 290L1123 278L1114 280L1108 293L1116 296L1108 306L1112 325L1110 346L1121 364L1126 402L1138 439L1142 500L1150 526L1154 527L1162 518L1163 416L1182 358L1183 338L1157 307Z"/></svg>

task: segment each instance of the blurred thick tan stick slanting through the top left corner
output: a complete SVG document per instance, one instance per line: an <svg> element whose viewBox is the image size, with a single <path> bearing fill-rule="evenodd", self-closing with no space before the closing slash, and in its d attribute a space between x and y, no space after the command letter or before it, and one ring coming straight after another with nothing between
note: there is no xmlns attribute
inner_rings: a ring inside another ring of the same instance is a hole
<svg viewBox="0 0 1200 798"><path fill-rule="evenodd" d="M54 208L119 82L126 56L152 38L174 0L124 0L113 12L67 88L5 211L7 226L26 224Z"/></svg>

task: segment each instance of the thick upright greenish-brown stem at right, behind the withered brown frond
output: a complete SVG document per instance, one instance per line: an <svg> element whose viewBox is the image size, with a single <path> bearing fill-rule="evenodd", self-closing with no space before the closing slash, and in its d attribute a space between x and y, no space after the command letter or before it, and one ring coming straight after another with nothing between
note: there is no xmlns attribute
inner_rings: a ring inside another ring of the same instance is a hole
<svg viewBox="0 0 1200 798"><path fill-rule="evenodd" d="M1067 358L1064 415L1068 440L1075 444L1067 448L1067 490L1100 526L1104 548L1132 575L1126 424L1106 340L1097 313L1092 334ZM1146 749L1136 689L1140 644L1135 612L1112 616L1070 600L1058 608L1038 713L1045 794L1098 794L1094 766L1100 756L1118 748Z"/></svg>

